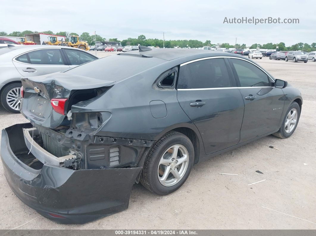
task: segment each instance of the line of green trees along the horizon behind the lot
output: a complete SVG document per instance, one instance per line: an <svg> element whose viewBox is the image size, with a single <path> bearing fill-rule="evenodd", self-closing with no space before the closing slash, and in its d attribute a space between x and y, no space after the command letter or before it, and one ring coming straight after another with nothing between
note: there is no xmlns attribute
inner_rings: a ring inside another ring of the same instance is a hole
<svg viewBox="0 0 316 236"><path fill-rule="evenodd" d="M78 35L80 40L87 41L90 45L94 45L95 41L109 41L109 42L120 42L122 46L127 46L127 45L142 45L142 46L154 46L154 47L160 47L162 48L165 46L166 48L174 48L174 47L180 47L180 48L201 48L203 46L213 46L213 45L218 45L221 48L236 48L236 49L245 49L246 44L236 44L236 45L231 45L229 43L217 43L217 44L212 44L210 40L206 40L205 42L199 41L199 40L165 40L165 42L162 39L158 38L146 38L144 35L140 35L137 38L127 38L124 40L118 40L117 38L104 38L100 35L90 35L88 32L83 32L81 35L77 33L69 33L66 31L61 31L61 32L56 32L53 33L52 31L42 31L42 32L37 32L37 31L30 31L30 30L25 30L25 31L14 31L12 33L7 34L6 32L0 32L0 36L15 36L15 37L24 37L25 34L30 34L30 33L46 33L46 34L56 34L56 35L61 35L65 36L66 40L69 35ZM252 44L249 48L250 49L256 49L259 47L260 49L276 49L278 48L278 51L297 51L297 50L302 50L306 52L311 52L311 51L316 51L316 43L308 44L308 43L296 43L293 44L292 46L286 47L285 43L280 42L280 43L265 43L265 44L258 44L254 43Z"/></svg>

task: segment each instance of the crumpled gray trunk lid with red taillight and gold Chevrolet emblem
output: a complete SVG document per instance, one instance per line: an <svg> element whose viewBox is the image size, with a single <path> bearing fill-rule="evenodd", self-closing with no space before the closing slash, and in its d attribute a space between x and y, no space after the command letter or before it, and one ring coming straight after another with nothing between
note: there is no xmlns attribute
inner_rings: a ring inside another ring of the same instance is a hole
<svg viewBox="0 0 316 236"><path fill-rule="evenodd" d="M71 105L91 99L115 83L63 72L21 81L21 113L31 122L51 129L63 125Z"/></svg>

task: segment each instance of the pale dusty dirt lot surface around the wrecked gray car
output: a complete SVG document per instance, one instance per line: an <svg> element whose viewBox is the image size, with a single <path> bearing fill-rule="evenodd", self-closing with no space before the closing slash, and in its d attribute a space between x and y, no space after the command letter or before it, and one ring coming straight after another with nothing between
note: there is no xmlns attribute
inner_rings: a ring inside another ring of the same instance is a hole
<svg viewBox="0 0 316 236"><path fill-rule="evenodd" d="M12 193L1 163L0 228L316 229L316 62L254 60L302 92L300 122L290 138L270 135L198 163L185 184L167 196L135 184L127 210L84 225L57 224L27 207ZM21 114L0 108L1 129L24 122ZM248 186L261 180L266 181Z"/></svg>

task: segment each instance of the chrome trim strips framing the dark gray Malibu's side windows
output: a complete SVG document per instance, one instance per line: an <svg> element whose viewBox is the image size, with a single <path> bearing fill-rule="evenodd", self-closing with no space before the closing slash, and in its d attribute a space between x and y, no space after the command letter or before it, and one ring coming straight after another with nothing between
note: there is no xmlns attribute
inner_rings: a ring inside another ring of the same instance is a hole
<svg viewBox="0 0 316 236"><path fill-rule="evenodd" d="M270 78L272 80L272 82L274 83L274 79L261 67L257 66L255 63L253 63L250 60L246 60L244 58L239 58L239 57L234 57L234 56L211 56L211 57L204 57L204 58L199 58L199 59L195 59L195 60L190 60L187 61L185 63L180 64L181 66L185 66L187 64L190 64L192 62L196 62L196 61L200 61L200 60L208 60L208 59L214 59L214 58L232 58L232 59L239 59L239 60L244 60L247 61L249 63L251 63L252 65L256 66L257 68L259 68L260 70L262 70L267 76L268 78ZM181 70L181 69L180 69ZM214 90L214 89L254 89L254 88L274 88L272 86L261 86L261 87L225 87L225 88L201 88L201 89L177 89L178 91L184 91L184 90Z"/></svg>

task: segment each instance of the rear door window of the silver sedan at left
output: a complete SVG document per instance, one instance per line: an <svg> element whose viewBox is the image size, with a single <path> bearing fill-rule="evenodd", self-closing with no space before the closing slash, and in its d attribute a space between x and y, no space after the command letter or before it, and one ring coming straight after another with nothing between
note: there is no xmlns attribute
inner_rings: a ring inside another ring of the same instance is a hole
<svg viewBox="0 0 316 236"><path fill-rule="evenodd" d="M29 52L31 64L38 65L64 65L59 49L42 49Z"/></svg>

